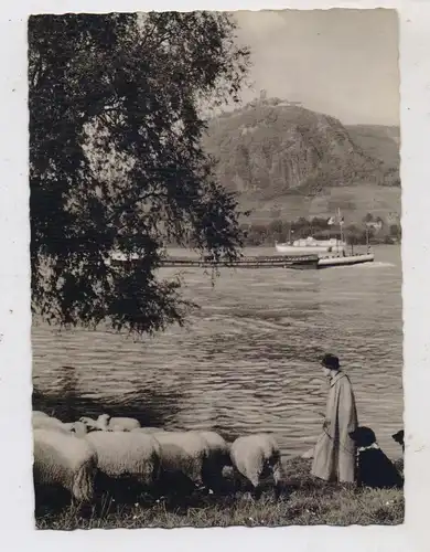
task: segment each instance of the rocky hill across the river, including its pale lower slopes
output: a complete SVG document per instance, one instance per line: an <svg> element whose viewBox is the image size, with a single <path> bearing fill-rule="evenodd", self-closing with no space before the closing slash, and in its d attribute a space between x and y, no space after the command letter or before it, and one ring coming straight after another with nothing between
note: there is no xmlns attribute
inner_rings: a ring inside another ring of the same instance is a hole
<svg viewBox="0 0 430 552"><path fill-rule="evenodd" d="M325 216L337 208L348 222L400 212L391 127L345 127L278 98L260 99L212 119L204 147L252 221Z"/></svg>

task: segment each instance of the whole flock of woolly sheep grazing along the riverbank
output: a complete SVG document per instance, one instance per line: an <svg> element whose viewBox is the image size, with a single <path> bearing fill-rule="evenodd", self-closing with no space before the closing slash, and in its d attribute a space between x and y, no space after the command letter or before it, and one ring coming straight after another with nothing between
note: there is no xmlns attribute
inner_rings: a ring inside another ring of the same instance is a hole
<svg viewBox="0 0 430 552"><path fill-rule="evenodd" d="M32 423L36 500L37 489L54 487L68 491L73 501L90 502L99 476L116 484L127 478L153 496L174 491L174 477L213 493L223 488L226 466L251 484L255 497L261 493L262 478L271 476L279 496L281 455L268 434L227 443L212 431L141 427L135 418L108 414L63 423L40 411L33 411Z"/></svg>

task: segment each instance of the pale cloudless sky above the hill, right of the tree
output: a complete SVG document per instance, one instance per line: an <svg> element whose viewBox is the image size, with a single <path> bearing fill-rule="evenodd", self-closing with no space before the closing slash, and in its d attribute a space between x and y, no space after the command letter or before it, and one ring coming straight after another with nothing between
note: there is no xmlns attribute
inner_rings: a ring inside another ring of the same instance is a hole
<svg viewBox="0 0 430 552"><path fill-rule="evenodd" d="M239 43L251 49L243 100L301 102L343 124L399 125L395 10L235 12Z"/></svg>

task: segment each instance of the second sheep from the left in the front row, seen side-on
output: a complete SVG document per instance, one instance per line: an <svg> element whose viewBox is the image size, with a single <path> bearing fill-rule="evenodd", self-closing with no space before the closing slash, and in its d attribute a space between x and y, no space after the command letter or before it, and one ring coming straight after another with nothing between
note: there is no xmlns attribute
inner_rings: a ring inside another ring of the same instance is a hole
<svg viewBox="0 0 430 552"><path fill-rule="evenodd" d="M85 439L98 456L98 469L112 479L131 477L152 486L160 476L160 445L151 436L129 432L90 432Z"/></svg>

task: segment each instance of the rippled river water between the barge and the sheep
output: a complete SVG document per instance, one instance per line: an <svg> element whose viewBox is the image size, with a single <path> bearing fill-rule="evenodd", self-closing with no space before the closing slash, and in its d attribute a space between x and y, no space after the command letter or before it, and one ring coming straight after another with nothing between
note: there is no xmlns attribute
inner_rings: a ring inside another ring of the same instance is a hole
<svg viewBox="0 0 430 552"><path fill-rule="evenodd" d="M202 308L185 328L152 339L35 323L34 385L45 401L60 393L67 418L106 411L229 437L270 431L288 457L319 434L326 389L318 359L331 351L352 379L359 422L398 456L390 435L402 426L400 252L378 247L376 257L325 270L223 269L215 287L186 269L184 294Z"/></svg>

